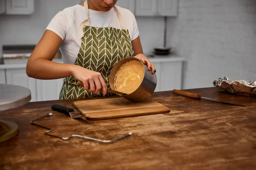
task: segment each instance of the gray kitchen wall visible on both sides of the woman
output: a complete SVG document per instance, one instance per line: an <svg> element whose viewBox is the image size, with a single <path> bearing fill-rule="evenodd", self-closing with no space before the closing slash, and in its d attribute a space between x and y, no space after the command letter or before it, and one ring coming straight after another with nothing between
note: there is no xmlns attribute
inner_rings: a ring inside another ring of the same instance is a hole
<svg viewBox="0 0 256 170"><path fill-rule="evenodd" d="M35 0L35 13L30 16L0 15L0 55L2 45L37 44L48 23L58 11L82 0ZM143 51L163 45L163 17L137 17Z"/></svg>

